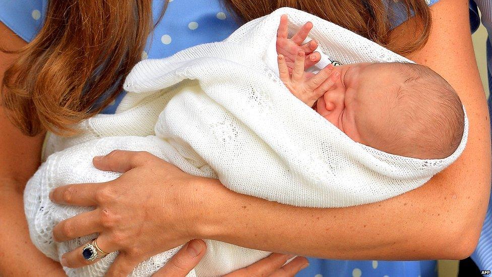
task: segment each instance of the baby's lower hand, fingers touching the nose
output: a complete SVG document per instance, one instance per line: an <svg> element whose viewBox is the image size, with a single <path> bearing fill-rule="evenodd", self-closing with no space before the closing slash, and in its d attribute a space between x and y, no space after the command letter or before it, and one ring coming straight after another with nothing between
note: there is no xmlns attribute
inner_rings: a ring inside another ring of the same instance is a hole
<svg viewBox="0 0 492 277"><path fill-rule="evenodd" d="M307 78L306 72L304 72L304 57L303 51L297 53L291 77L285 57L279 54L277 59L278 70L280 80L284 82L290 92L306 105L313 107L316 101L335 84L340 73L338 71L332 72L333 65L328 65L313 77Z"/></svg>

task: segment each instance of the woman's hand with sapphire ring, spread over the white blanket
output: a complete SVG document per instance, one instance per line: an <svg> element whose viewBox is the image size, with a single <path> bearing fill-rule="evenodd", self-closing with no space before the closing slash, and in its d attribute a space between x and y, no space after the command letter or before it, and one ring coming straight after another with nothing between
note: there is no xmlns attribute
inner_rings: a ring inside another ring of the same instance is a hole
<svg viewBox="0 0 492 277"><path fill-rule="evenodd" d="M141 261L200 238L195 227L200 204L197 178L147 152L112 151L95 157L93 163L103 171L124 173L114 181L59 187L50 199L59 204L95 206L61 221L53 229L56 241L99 233L97 244L104 252L119 251L109 275L127 275ZM65 253L61 264L81 267L95 261L82 256L83 246Z"/></svg>

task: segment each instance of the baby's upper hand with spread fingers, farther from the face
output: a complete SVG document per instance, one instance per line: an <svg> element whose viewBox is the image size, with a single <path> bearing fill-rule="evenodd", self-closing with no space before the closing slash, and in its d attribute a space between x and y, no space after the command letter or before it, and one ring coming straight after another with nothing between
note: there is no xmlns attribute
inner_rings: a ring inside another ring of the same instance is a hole
<svg viewBox="0 0 492 277"><path fill-rule="evenodd" d="M304 24L290 39L288 38L288 24L287 15L282 15L277 31L277 54L285 57L289 73L292 74L297 52L303 51L305 53L304 68L310 68L317 64L321 59L321 55L318 52L313 52L318 47L318 43L315 40L302 44L313 28L313 23L307 22Z"/></svg>

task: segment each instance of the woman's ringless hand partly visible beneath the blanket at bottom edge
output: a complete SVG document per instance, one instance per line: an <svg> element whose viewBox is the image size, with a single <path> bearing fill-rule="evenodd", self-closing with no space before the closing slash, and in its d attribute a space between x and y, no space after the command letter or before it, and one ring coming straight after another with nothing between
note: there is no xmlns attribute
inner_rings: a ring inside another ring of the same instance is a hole
<svg viewBox="0 0 492 277"><path fill-rule="evenodd" d="M205 254L205 243L202 240L192 240L183 246L154 277L186 276L202 259ZM225 277L242 276L294 276L309 263L304 257L296 257L289 263L285 262L293 256L284 254L271 254L248 267L236 270ZM285 264L285 265L284 265Z"/></svg>

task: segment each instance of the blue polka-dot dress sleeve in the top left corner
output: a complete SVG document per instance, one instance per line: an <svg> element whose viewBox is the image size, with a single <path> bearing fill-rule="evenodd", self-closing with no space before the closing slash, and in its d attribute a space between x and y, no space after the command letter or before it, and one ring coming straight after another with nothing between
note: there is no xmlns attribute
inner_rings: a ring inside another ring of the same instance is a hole
<svg viewBox="0 0 492 277"><path fill-rule="evenodd" d="M29 42L41 29L47 0L0 0L0 21Z"/></svg>

